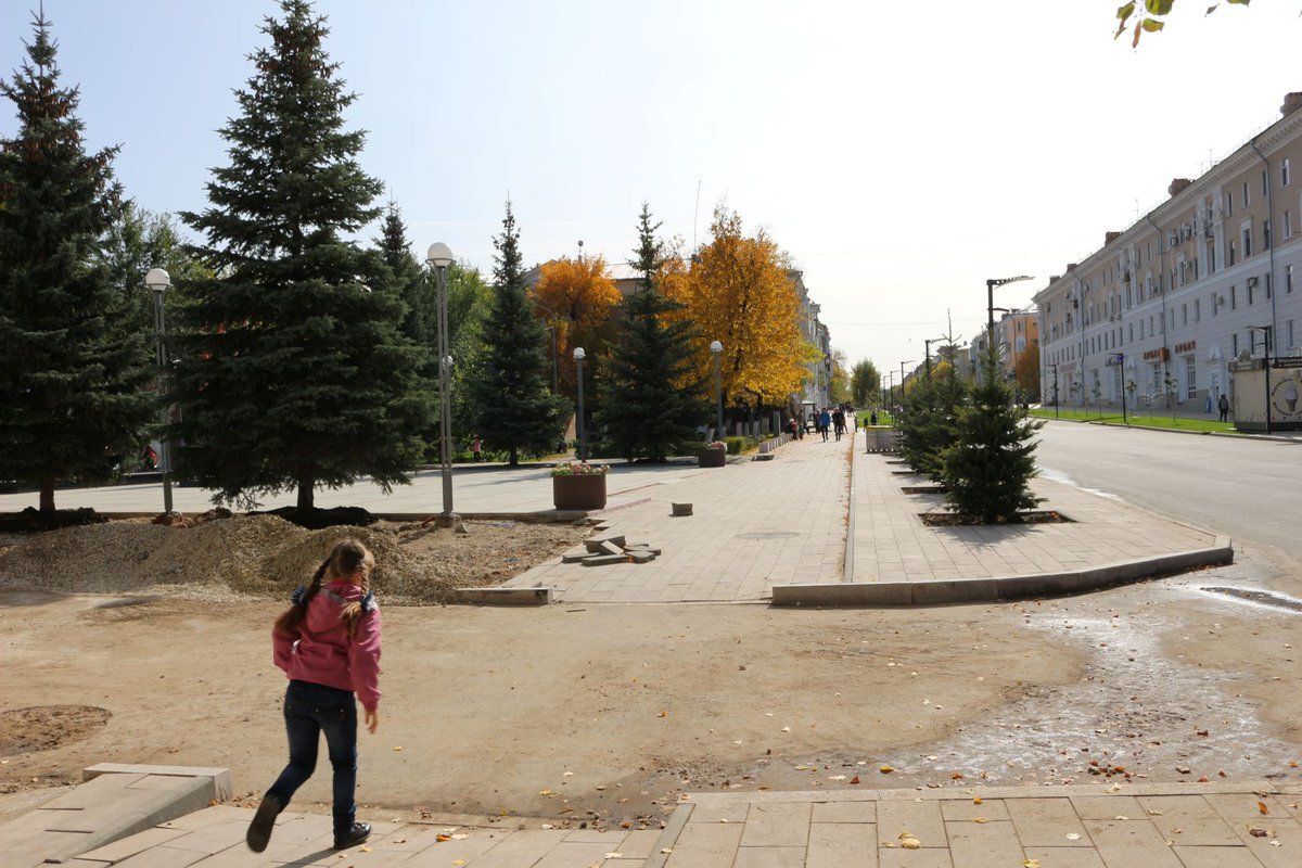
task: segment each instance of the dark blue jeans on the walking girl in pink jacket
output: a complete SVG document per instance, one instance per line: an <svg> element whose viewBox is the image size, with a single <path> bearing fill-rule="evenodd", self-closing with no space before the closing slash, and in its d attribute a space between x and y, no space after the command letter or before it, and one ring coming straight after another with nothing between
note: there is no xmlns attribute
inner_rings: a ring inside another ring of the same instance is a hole
<svg viewBox="0 0 1302 868"><path fill-rule="evenodd" d="M307 681L290 681L285 691L285 733L289 765L267 795L288 806L316 769L316 747L326 734L329 764L335 769L335 834L353 828L357 817L357 703L353 691Z"/></svg>

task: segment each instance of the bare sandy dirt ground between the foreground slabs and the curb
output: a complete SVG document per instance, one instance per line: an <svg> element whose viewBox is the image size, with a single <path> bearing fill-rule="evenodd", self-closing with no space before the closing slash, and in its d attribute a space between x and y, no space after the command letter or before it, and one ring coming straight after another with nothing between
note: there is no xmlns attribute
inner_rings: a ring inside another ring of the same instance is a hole
<svg viewBox="0 0 1302 868"><path fill-rule="evenodd" d="M1298 780L1298 616L1199 591L1253 569L921 610L388 605L358 799L656 828L719 789ZM280 608L0 591L0 819L102 761L227 766L255 803L285 759ZM328 794L323 757L296 807Z"/></svg>

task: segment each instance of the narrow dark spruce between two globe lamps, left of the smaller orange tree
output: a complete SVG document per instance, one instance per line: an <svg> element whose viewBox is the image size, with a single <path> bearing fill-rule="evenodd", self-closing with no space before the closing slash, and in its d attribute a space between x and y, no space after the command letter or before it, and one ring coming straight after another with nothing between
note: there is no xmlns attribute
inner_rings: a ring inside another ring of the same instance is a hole
<svg viewBox="0 0 1302 868"><path fill-rule="evenodd" d="M493 305L484 323L484 357L471 373L475 432L488 449L510 453L510 466L521 453L551 449L560 436L565 400L549 394L547 332L534 316L525 293L523 259L516 215L506 202L501 236L493 238Z"/></svg>

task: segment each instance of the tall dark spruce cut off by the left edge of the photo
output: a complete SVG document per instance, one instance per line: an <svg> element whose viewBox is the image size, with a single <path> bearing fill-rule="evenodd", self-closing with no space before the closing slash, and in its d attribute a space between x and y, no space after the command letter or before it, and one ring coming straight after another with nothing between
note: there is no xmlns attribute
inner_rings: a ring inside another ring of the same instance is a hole
<svg viewBox="0 0 1302 868"><path fill-rule="evenodd" d="M33 30L29 60L0 83L18 116L0 141L0 478L38 483L40 510L53 511L56 480L104 478L134 458L154 367L100 256L122 211L117 148L86 152L49 22Z"/></svg>

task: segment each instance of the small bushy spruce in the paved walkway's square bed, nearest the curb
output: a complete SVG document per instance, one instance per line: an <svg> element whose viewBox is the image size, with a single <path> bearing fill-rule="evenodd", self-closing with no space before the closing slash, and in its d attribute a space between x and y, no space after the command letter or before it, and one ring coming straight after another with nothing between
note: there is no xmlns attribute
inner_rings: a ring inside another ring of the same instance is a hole
<svg viewBox="0 0 1302 868"><path fill-rule="evenodd" d="M1013 403L1013 392L997 372L999 349L987 341L982 381L958 409L956 442L941 452L945 504L960 521L974 524L1018 522L1018 510L1040 502L1031 493L1035 468L1034 422Z"/></svg>

